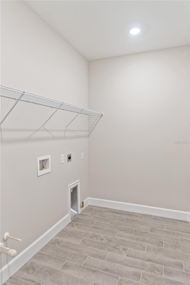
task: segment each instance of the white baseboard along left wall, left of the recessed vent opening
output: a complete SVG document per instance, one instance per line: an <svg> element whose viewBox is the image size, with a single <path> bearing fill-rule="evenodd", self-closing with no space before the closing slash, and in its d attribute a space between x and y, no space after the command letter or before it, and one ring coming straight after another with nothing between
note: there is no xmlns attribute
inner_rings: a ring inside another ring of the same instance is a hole
<svg viewBox="0 0 190 285"><path fill-rule="evenodd" d="M17 270L20 269L29 259L34 256L44 245L46 245L58 232L61 231L70 222L69 214L64 216L54 226L52 226L47 232L42 234L37 240L29 245L25 250L19 253L14 259L7 263L0 270L0 284L2 285L7 279L9 279Z"/></svg>

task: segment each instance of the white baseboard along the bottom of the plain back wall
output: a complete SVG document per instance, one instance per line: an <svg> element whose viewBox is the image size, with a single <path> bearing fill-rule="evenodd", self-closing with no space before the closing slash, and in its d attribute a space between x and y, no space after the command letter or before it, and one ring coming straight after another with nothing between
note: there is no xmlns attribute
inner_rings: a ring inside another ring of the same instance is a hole
<svg viewBox="0 0 190 285"><path fill-rule="evenodd" d="M88 200L88 201L87 201ZM104 200L104 199L96 199L96 198L87 198L86 205L94 205L130 212L137 212L141 214L148 214L148 215L155 215L165 218L172 218L177 220L183 221L190 221L190 213L183 212L178 210L170 210L165 208L157 208L145 205L138 205L138 204L131 204L125 202L118 202L118 201L111 201L111 200Z"/></svg>

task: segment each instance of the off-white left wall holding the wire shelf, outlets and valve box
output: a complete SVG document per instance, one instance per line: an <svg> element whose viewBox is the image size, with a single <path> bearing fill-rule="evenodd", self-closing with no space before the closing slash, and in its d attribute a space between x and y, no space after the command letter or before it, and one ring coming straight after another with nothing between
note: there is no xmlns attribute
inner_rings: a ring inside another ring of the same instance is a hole
<svg viewBox="0 0 190 285"><path fill-rule="evenodd" d="M87 60L22 1L1 1L1 84L88 108ZM40 110L46 120L47 110ZM67 214L69 184L80 179L81 200L88 197L88 138L64 138L64 127L55 137L33 135L40 126L37 106L20 104L14 112L1 129L1 242L5 232L22 238L8 241L20 253ZM51 122L60 126L60 118ZM80 123L86 126L78 119L73 127ZM13 124L22 130L11 130ZM43 155L51 155L52 170L37 177L37 157ZM2 259L2 266L10 260Z"/></svg>

